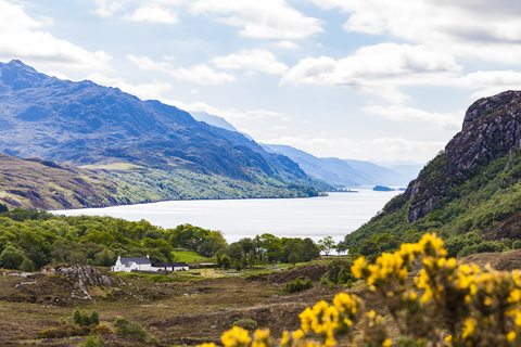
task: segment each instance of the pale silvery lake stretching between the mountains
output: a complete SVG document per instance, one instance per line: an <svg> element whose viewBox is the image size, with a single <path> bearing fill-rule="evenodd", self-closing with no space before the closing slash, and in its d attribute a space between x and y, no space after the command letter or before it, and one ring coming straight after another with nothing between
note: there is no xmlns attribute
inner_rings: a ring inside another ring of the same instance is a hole
<svg viewBox="0 0 521 347"><path fill-rule="evenodd" d="M190 223L220 230L228 243L270 233L278 237L332 236L339 242L369 221L399 191L329 193L307 198L251 198L171 201L104 208L54 210L53 214L111 216L126 220L145 219L164 229Z"/></svg>

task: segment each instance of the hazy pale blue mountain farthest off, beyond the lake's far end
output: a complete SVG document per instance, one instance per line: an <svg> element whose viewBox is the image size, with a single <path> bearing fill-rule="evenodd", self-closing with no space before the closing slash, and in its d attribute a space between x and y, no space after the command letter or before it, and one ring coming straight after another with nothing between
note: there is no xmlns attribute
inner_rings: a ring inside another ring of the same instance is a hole
<svg viewBox="0 0 521 347"><path fill-rule="evenodd" d="M389 168L369 162L318 158L309 153L289 145L265 144L266 151L290 157L308 175L329 182L335 187L357 185L406 185L407 179Z"/></svg>

